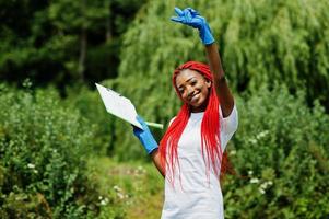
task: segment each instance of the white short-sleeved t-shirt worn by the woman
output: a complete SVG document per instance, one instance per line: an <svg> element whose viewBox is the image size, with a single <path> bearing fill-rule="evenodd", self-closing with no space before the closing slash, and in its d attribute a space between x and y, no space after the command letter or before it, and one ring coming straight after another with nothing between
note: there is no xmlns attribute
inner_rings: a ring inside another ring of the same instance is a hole
<svg viewBox="0 0 329 219"><path fill-rule="evenodd" d="M237 110L228 117L220 110L221 146L224 152L228 140L237 129ZM178 141L179 169L176 165L174 181L165 178L165 201L162 219L223 219L224 205L219 175L207 165L201 152L202 113L191 113ZM204 151L205 152L205 151ZM173 186L174 184L174 186Z"/></svg>

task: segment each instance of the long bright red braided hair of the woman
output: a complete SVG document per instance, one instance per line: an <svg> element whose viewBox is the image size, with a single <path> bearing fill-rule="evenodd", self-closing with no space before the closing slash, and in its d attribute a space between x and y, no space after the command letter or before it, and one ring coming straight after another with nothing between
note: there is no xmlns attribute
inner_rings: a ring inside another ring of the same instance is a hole
<svg viewBox="0 0 329 219"><path fill-rule="evenodd" d="M175 69L173 74L173 84L176 90L176 93L181 99L178 88L176 87L176 77L183 69L190 69L198 71L208 80L212 81L212 73L210 68L205 64L197 62L197 61L188 61L177 69ZM212 83L213 84L213 83ZM210 88L209 97L208 97L208 105L201 122L201 151L202 155L205 161L207 166L207 175L209 176L209 171L212 168L215 174L219 174L219 171L222 170L223 172L224 166L221 169L222 165L225 165L225 161L222 162L222 148L221 148L221 140L220 140L220 114L219 114L219 106L220 102L215 94L214 87ZM179 110L176 118L168 127L167 131L165 132L164 137L160 142L160 155L161 155L161 165L162 169L166 173L171 173L168 180L173 182L174 171L176 164L179 166L178 162L178 141L179 138L188 123L190 117L190 108L187 103L184 103L181 108ZM205 153L204 153L205 149ZM167 158L168 155L168 158ZM226 158L224 155L224 158ZM226 160L226 159L225 159ZM168 170L166 170L168 169Z"/></svg>

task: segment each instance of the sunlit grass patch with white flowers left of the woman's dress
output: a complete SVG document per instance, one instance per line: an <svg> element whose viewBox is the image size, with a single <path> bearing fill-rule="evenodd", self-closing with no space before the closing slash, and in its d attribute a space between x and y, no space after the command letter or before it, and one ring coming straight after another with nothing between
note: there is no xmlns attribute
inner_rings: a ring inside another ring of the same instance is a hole
<svg viewBox="0 0 329 219"><path fill-rule="evenodd" d="M90 177L99 194L99 218L161 217L163 178L152 163L122 163L109 158L89 161Z"/></svg>

